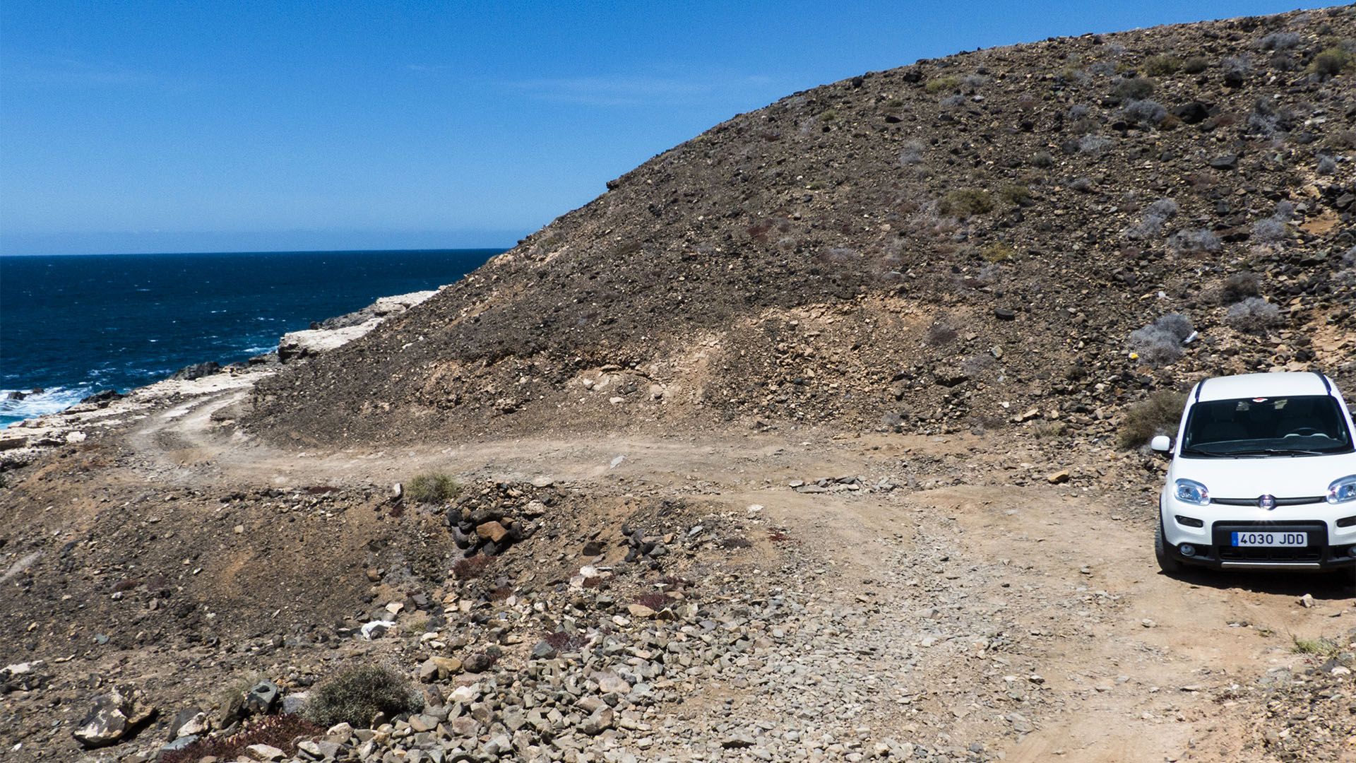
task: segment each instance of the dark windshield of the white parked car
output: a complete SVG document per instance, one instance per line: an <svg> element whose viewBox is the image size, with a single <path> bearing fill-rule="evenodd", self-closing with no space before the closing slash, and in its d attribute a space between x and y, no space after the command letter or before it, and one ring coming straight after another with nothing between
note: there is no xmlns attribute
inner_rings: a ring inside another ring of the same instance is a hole
<svg viewBox="0 0 1356 763"><path fill-rule="evenodd" d="M1328 395L1205 401L1191 407L1185 456L1309 456L1352 451L1337 401Z"/></svg>

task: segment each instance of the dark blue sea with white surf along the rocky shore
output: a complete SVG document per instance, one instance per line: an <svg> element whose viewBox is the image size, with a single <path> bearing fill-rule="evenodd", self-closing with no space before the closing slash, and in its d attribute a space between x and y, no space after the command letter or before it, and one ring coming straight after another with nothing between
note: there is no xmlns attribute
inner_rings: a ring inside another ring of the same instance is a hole
<svg viewBox="0 0 1356 763"><path fill-rule="evenodd" d="M194 362L247 360L312 320L450 284L500 251L0 257L0 426Z"/></svg>

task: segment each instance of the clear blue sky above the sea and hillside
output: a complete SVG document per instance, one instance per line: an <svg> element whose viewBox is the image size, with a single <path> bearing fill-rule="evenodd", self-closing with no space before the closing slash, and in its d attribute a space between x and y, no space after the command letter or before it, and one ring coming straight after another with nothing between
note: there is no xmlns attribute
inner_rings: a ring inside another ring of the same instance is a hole
<svg viewBox="0 0 1356 763"><path fill-rule="evenodd" d="M0 4L0 254L498 247L734 114L1261 0Z"/></svg>

